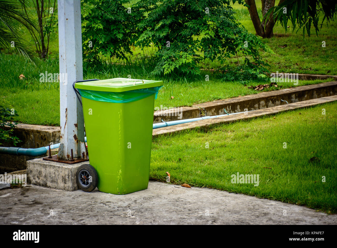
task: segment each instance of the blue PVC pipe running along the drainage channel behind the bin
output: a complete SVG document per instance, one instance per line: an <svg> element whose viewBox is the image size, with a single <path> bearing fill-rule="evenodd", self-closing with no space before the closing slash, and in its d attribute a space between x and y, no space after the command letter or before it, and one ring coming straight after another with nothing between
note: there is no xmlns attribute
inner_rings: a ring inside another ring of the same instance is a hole
<svg viewBox="0 0 337 248"><path fill-rule="evenodd" d="M250 112L250 111L245 111L245 112ZM238 112L238 113L232 113L232 114L240 114L240 113L245 113L245 112ZM173 120L173 121L167 121L167 122L162 120L163 122L161 123L153 124L153 129L174 126L174 125L197 121L197 120L212 119L212 118L217 118L217 117L232 115L232 114L203 116L203 117L198 117L198 118L185 119L185 120ZM87 137L84 137L84 142L87 142ZM51 149L56 149L59 147L60 147L60 143L53 144L50 146ZM40 148L0 147L0 154L38 157L38 156L47 154L48 150L49 150L49 146L43 146Z"/></svg>

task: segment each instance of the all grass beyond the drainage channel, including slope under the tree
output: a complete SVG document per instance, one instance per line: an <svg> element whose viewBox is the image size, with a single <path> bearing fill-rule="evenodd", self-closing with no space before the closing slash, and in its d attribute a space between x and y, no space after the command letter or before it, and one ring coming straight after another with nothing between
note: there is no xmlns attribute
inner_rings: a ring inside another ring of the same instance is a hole
<svg viewBox="0 0 337 248"><path fill-rule="evenodd" d="M131 4L135 3L132 1ZM261 2L257 1L257 8L261 10ZM237 19L248 29L255 33L253 24L246 7L234 4L237 11ZM36 18L36 13L31 8L30 14ZM57 12L55 12L57 15ZM305 36L302 33L287 33L278 24L274 27L275 37L264 39L275 54L262 53L263 60L268 62L270 71L328 74L336 75L335 58L337 48L335 44L337 30L336 23L332 23L329 28L326 26L319 32L318 37L312 34ZM23 37L32 43L32 39L25 29L22 29ZM321 47L321 40L325 40L327 47ZM284 45L286 47L282 48ZM19 56L13 48L3 50L0 54L0 101L6 100L19 113L18 121L43 124L59 125L59 86L58 83L41 83L40 73L58 73L58 34L52 33L50 40L49 58L34 67L27 60ZM239 81L224 82L218 75L210 71L202 71L200 76L195 77L154 77L150 75L150 56L152 50L135 47L132 54L131 64L98 64L97 66L84 66L84 79L128 77L139 79L157 79L164 81L164 87L160 90L155 106L165 107L191 106L196 103L238 97L256 93L247 89ZM235 59L229 59L228 63L235 65ZM205 60L200 64L202 68L217 68L218 62ZM20 80L23 74L26 79ZM205 75L209 75L209 81L205 81ZM324 80L329 81L329 80ZM319 83L324 81L300 81L299 85ZM248 82L248 85L256 85L256 82ZM291 83L280 84L283 87L292 86ZM272 90L272 89L269 89ZM173 99L171 97L174 97ZM31 101L25 99L32 99ZM48 109L49 111L44 111ZM43 113L41 113L43 111Z"/></svg>

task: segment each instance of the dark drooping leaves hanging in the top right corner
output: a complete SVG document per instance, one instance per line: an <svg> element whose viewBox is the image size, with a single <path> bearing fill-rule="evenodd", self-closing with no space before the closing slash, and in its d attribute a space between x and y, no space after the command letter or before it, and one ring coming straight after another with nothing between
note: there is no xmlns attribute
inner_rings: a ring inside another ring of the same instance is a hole
<svg viewBox="0 0 337 248"><path fill-rule="evenodd" d="M285 9L286 8L286 13ZM279 6L271 8L265 18L274 11L274 19L279 22L287 31L287 22L290 21L293 25L293 30L298 26L303 29L303 37L305 31L310 36L311 24L313 24L316 35L318 35L319 16L323 13L324 17L320 27L322 27L324 20L328 22L333 21L337 13L336 0L286 0Z"/></svg>

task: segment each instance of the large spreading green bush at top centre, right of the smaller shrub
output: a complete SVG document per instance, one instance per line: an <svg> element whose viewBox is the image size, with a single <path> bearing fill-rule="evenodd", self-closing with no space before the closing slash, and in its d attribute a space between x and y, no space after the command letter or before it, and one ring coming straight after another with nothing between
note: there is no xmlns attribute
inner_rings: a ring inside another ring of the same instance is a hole
<svg viewBox="0 0 337 248"><path fill-rule="evenodd" d="M160 3L141 0L136 3L136 7L148 13L139 24L141 32L136 44L144 48L154 43L158 47L153 74L165 75L179 70L183 74L198 75L197 62L208 58L223 64L232 55L239 54L245 57L245 62L239 65L238 71L249 69L254 76L262 76L261 71L266 69L261 67L265 64L258 49L267 51L268 48L234 18L235 12L229 4L229 0L164 0Z"/></svg>

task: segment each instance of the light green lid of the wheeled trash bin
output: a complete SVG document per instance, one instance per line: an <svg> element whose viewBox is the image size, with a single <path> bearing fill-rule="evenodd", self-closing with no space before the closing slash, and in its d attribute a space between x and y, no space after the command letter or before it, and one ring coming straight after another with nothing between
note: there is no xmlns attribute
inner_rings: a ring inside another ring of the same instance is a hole
<svg viewBox="0 0 337 248"><path fill-rule="evenodd" d="M132 78L111 78L75 83L75 88L106 92L123 92L162 86L163 81L142 80Z"/></svg>

